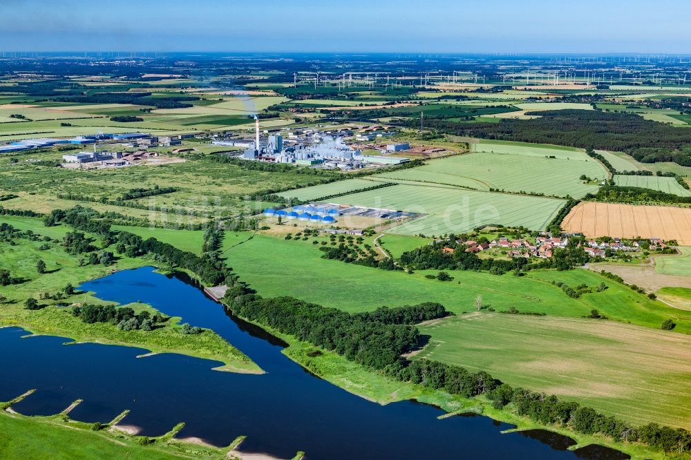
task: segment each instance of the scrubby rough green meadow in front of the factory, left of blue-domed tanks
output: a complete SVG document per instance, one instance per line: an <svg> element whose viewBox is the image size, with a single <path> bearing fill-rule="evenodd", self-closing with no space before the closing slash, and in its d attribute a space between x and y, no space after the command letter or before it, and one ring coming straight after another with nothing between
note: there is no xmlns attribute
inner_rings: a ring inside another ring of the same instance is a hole
<svg viewBox="0 0 691 460"><path fill-rule="evenodd" d="M3 201L2 206L47 213L51 209L67 209L82 204L100 212L118 213L140 220L202 223L212 215L237 215L265 206L261 202L245 200L248 194L316 182L314 176L310 175L248 171L239 166L205 159L91 171L36 166L28 161L59 158L59 153L53 152L3 155L0 158L0 193L15 193L19 198ZM12 163L12 159L18 162ZM144 209L57 198L57 195L74 194L117 200L133 187L166 187L171 184L179 190L131 200L132 204Z"/></svg>

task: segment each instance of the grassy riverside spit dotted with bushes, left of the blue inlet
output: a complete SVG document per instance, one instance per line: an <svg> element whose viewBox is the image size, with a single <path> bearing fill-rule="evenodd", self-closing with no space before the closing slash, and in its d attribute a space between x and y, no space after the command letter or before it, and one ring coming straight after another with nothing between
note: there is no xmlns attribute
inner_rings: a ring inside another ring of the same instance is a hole
<svg viewBox="0 0 691 460"><path fill-rule="evenodd" d="M42 224L35 220L34 231L41 234ZM14 224L16 218L6 220L0 216L0 222ZM29 222L25 222L25 228ZM224 363L224 370L236 372L261 372L252 361L238 349L227 343L218 334L207 331L202 334L180 334L178 321L171 318L164 327L151 332L142 330L121 331L110 323L84 323L70 314L68 308L58 307L57 300L40 299L41 294L57 294L71 283L77 287L80 282L99 278L113 271L141 267L151 263L146 258L126 258L120 256L115 265L79 266L77 256L64 251L63 247L50 242L49 249L39 249L44 242L16 238L14 245L0 243L0 268L8 269L11 276L21 278L23 282L3 286L2 294L7 300L0 308L0 325L17 325L37 334L50 334L73 338L75 341L98 341L113 345L130 345L144 347L152 352L171 352L207 358ZM109 248L111 251L113 248ZM38 260L46 263L46 273L38 274ZM26 298L37 298L42 308L28 310L24 308ZM60 300L68 304L108 304L86 292L77 292ZM136 310L150 309L146 305L130 305Z"/></svg>

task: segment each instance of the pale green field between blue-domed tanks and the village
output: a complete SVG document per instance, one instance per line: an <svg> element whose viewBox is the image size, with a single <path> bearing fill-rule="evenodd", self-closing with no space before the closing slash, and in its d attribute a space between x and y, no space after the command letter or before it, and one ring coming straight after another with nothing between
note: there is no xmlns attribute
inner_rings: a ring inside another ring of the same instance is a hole
<svg viewBox="0 0 691 460"><path fill-rule="evenodd" d="M330 200L339 204L422 213L388 233L425 236L462 233L485 224L542 230L563 200L454 189L433 184L397 184Z"/></svg>

